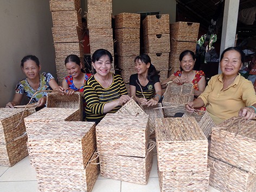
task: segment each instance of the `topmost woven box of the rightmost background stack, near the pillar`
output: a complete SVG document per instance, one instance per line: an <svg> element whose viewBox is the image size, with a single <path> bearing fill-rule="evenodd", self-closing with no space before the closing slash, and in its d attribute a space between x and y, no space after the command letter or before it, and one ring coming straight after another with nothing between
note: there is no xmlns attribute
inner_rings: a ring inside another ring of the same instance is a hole
<svg viewBox="0 0 256 192"><path fill-rule="evenodd" d="M176 22L170 24L170 36L176 41L196 42L200 23Z"/></svg>

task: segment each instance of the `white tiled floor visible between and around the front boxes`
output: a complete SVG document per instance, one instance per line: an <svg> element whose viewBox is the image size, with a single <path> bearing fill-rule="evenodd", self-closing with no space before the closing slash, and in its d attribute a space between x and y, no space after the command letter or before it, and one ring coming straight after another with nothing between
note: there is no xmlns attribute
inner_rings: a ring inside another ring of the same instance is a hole
<svg viewBox="0 0 256 192"><path fill-rule="evenodd" d="M0 166L0 191L1 192L35 192L37 190L37 181L35 169L30 165L29 157L13 167ZM153 167L150 172L150 178L147 185L127 183L123 181L110 180L99 175L92 192L159 192L159 183L157 175L157 157L153 157ZM217 192L209 187L210 192Z"/></svg>

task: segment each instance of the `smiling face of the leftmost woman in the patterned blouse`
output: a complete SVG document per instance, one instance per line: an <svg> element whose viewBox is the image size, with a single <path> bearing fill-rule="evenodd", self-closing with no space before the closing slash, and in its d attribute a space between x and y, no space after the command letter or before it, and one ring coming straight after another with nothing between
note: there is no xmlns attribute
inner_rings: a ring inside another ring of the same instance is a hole
<svg viewBox="0 0 256 192"><path fill-rule="evenodd" d="M39 76L40 70L41 70L41 65L37 66L36 62L33 60L25 61L22 67L23 73L29 79L35 79L37 76Z"/></svg>

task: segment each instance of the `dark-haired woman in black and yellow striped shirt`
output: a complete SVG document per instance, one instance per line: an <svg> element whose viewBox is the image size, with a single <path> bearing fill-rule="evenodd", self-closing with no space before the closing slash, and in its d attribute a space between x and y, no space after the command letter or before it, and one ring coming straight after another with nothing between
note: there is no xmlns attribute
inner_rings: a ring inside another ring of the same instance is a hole
<svg viewBox="0 0 256 192"><path fill-rule="evenodd" d="M113 57L108 50L98 49L92 55L95 74L84 85L86 121L96 124L106 113L115 113L130 100L124 80L110 72Z"/></svg>

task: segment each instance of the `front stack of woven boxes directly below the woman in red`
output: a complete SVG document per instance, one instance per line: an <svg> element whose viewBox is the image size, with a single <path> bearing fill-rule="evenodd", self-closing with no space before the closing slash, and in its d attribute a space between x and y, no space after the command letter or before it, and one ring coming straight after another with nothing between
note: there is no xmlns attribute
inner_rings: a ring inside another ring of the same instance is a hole
<svg viewBox="0 0 256 192"><path fill-rule="evenodd" d="M156 119L161 191L208 191L208 141L195 118Z"/></svg>

